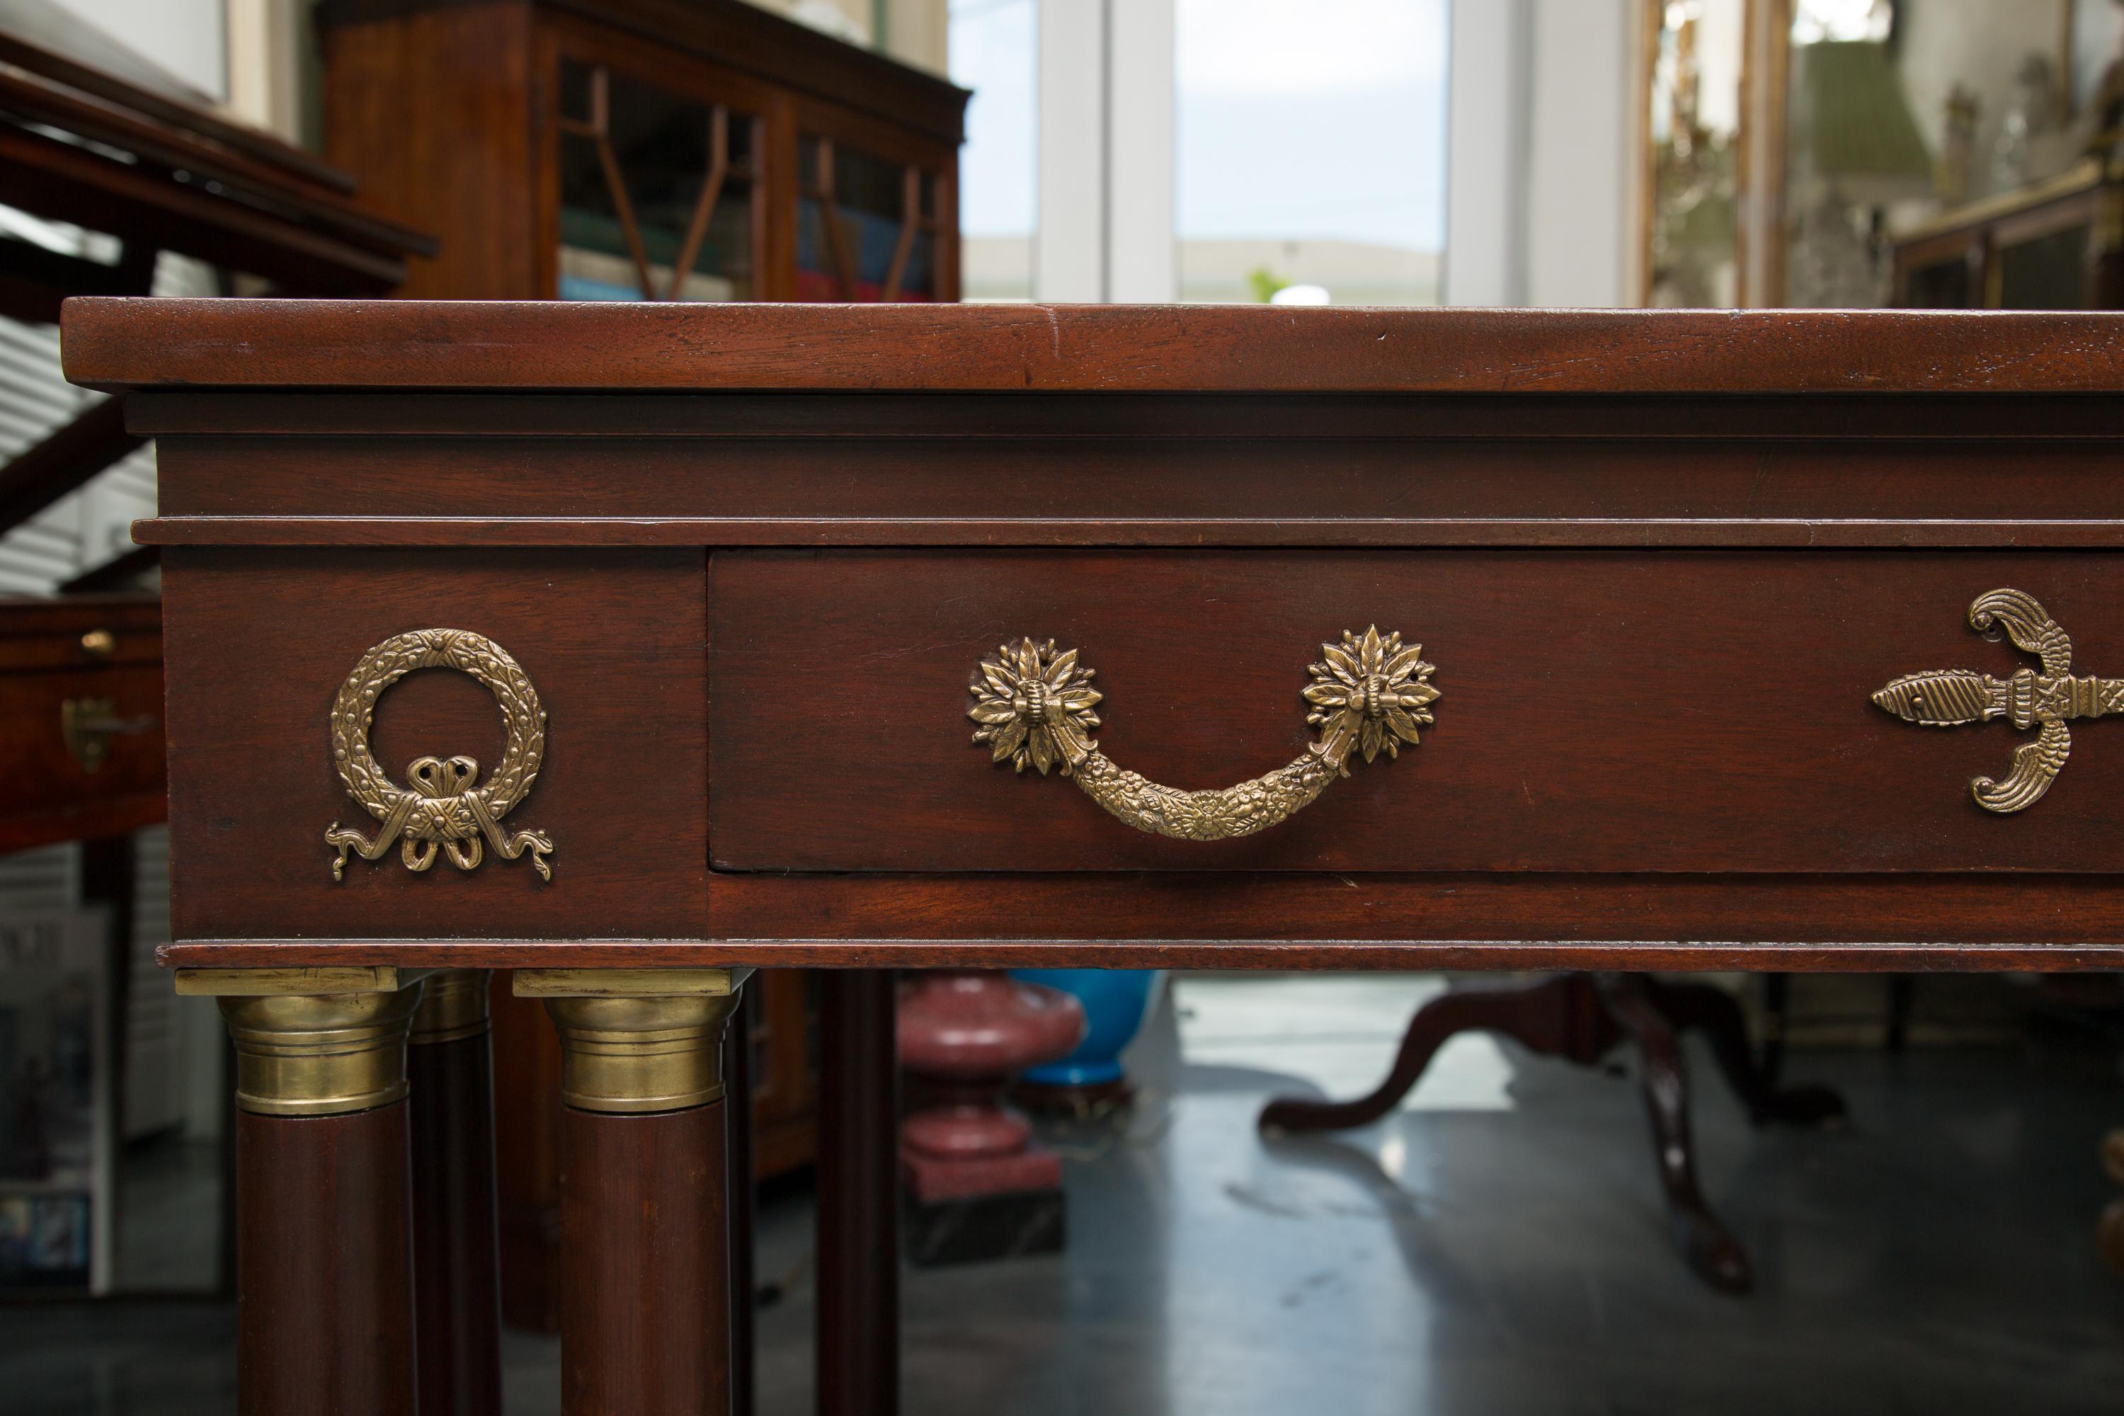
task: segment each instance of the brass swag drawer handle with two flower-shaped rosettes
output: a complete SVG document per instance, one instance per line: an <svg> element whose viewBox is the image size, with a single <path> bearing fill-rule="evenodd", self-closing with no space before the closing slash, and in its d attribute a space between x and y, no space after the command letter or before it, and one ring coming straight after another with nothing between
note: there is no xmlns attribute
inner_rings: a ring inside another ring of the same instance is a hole
<svg viewBox="0 0 2124 1416"><path fill-rule="evenodd" d="M981 660L973 681L973 707L981 724L973 741L990 749L994 762L1017 771L1037 766L1045 777L1060 769L1075 777L1083 794L1136 830L1181 841L1223 841L1251 836L1313 802L1336 777L1347 777L1351 752L1370 762L1385 749L1400 756L1402 743L1417 741L1417 726L1432 722L1432 664L1423 645L1402 645L1402 637L1378 626L1342 643L1323 643L1321 662L1308 673L1304 698L1313 705L1306 722L1319 741L1289 766L1217 792L1183 792L1160 785L1107 758L1092 741L1104 696L1092 688L1094 669L1077 660L1077 650L1056 652L1054 639L1005 643L1000 660Z"/></svg>

